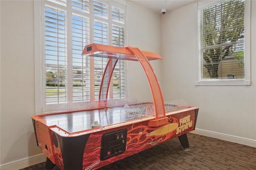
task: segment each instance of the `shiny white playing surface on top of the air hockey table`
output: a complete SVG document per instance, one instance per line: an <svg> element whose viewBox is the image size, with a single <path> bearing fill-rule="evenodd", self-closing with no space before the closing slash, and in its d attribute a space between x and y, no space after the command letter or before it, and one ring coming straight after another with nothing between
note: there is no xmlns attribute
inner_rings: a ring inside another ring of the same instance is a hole
<svg viewBox="0 0 256 170"><path fill-rule="evenodd" d="M173 102L165 103L166 115L172 115L178 111L190 109L188 106L178 105ZM107 107L104 109L92 109L86 111L74 111L61 114L42 115L47 125L56 125L58 128L75 134L92 129L94 121L100 123L100 129L109 126L120 126L123 123L140 122L154 117L154 105L152 103L134 103L128 106Z"/></svg>

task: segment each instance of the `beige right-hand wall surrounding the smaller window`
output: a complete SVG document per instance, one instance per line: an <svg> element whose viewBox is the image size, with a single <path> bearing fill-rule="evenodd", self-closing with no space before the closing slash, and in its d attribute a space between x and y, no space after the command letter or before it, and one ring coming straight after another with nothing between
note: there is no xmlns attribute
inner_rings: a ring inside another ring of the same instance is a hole
<svg viewBox="0 0 256 170"><path fill-rule="evenodd" d="M162 88L166 100L200 107L197 132L256 147L256 1L251 14L251 86L195 86L194 4L163 15Z"/></svg>

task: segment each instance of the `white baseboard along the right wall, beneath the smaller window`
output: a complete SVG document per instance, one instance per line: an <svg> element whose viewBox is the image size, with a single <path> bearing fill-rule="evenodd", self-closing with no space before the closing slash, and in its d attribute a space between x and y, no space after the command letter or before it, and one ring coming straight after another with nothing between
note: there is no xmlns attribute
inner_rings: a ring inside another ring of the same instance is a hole
<svg viewBox="0 0 256 170"><path fill-rule="evenodd" d="M252 147L256 148L256 140L253 140L253 139L242 138L239 136L232 136L232 135L224 134L224 133L212 132L209 130L203 130L203 129L199 129L199 128L196 128L191 133L200 134L202 136L208 136L208 137L212 137L212 138L217 138L220 140L226 140L228 142L244 144L246 146L252 146Z"/></svg>

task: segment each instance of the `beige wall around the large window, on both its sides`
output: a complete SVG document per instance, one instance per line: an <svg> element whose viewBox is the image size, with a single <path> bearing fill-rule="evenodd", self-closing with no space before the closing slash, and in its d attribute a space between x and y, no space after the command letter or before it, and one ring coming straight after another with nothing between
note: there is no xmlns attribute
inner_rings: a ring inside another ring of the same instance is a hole
<svg viewBox="0 0 256 170"><path fill-rule="evenodd" d="M36 146L31 120L35 114L34 2L1 0L0 12L0 167L15 170L45 161ZM128 45L160 53L161 16L132 2L127 15ZM151 63L160 77L161 61ZM138 62L128 63L128 71L130 95L140 100L151 99L148 82Z"/></svg>

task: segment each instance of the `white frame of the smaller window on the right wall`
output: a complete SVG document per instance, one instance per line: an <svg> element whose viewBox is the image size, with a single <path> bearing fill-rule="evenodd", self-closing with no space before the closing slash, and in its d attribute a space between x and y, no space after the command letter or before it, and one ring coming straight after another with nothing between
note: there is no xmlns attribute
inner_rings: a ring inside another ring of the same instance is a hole
<svg viewBox="0 0 256 170"><path fill-rule="evenodd" d="M201 79L201 56L199 50L199 12L201 9L226 0L202 1L195 7L195 57L196 82L195 85L251 85L250 80L250 0L245 0L244 11L244 79Z"/></svg>

